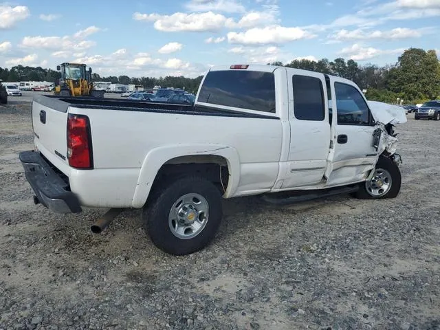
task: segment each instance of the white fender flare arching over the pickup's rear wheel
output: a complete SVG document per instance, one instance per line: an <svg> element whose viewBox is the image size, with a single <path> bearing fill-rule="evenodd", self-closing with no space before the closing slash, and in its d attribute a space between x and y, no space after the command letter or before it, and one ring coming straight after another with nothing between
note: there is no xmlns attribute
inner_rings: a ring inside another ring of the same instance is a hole
<svg viewBox="0 0 440 330"><path fill-rule="evenodd" d="M170 159L191 155L217 155L228 162L229 182L223 197L234 194L240 181L240 157L235 148L222 144L173 144L160 146L149 151L142 162L135 192L133 208L142 208L148 198L159 169Z"/></svg>

